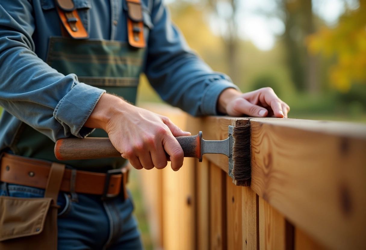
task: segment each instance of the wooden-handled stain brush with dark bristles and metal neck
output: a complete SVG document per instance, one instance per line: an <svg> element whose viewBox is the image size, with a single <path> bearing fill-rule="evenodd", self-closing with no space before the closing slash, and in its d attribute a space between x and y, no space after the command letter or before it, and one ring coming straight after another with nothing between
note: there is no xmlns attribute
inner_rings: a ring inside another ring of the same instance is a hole
<svg viewBox="0 0 366 250"><path fill-rule="evenodd" d="M203 154L223 154L229 158L229 176L236 185L249 185L251 177L250 125L229 126L229 136L221 141L202 139L202 131L194 136L175 137L184 157L198 158ZM57 140L55 156L58 160L82 160L121 157L109 138L87 137Z"/></svg>

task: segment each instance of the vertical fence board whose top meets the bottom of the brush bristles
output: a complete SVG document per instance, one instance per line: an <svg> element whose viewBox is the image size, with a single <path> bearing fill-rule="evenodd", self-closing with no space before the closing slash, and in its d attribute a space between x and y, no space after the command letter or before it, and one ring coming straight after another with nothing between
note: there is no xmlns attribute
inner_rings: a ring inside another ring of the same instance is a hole
<svg viewBox="0 0 366 250"><path fill-rule="evenodd" d="M243 249L259 250L258 196L250 187L242 189Z"/></svg>

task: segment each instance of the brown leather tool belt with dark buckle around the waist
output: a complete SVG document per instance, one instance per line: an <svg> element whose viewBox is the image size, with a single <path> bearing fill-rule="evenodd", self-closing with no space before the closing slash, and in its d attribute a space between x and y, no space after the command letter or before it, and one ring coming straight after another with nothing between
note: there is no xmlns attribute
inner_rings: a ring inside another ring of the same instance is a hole
<svg viewBox="0 0 366 250"><path fill-rule="evenodd" d="M0 181L45 189L51 162L4 153L0 159ZM102 199L128 197L128 168L113 169L106 174L65 169L60 190L97 194Z"/></svg>

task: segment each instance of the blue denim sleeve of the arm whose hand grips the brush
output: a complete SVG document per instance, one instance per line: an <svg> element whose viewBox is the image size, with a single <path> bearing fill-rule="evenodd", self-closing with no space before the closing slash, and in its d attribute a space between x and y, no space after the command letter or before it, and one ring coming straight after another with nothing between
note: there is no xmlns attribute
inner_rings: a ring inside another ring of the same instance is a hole
<svg viewBox="0 0 366 250"><path fill-rule="evenodd" d="M0 105L53 141L92 129L83 124L102 89L63 75L34 53L34 18L28 0L0 3Z"/></svg>

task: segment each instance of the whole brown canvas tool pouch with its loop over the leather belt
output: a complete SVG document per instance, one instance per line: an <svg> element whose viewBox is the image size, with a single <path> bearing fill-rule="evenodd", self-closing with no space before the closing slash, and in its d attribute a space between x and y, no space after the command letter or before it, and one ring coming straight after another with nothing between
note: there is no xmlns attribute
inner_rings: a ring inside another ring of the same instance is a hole
<svg viewBox="0 0 366 250"><path fill-rule="evenodd" d="M57 196L65 165L52 163L44 198L0 196L0 249L57 249Z"/></svg>

